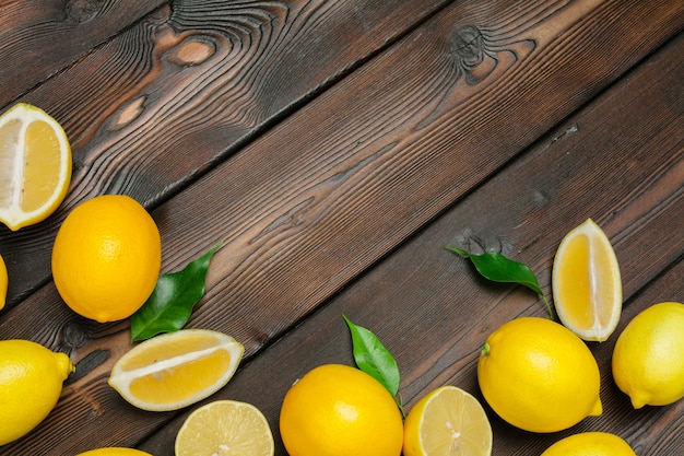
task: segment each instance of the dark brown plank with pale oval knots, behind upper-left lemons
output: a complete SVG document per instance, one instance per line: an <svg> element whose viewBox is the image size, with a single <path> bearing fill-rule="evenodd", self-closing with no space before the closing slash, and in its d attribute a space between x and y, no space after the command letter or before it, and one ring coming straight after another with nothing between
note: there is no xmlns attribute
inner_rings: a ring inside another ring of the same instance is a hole
<svg viewBox="0 0 684 456"><path fill-rule="evenodd" d="M0 226L16 278L8 307L49 279L78 202L117 192L158 204L444 3L177 1L23 96L64 126L74 171L51 218Z"/></svg>

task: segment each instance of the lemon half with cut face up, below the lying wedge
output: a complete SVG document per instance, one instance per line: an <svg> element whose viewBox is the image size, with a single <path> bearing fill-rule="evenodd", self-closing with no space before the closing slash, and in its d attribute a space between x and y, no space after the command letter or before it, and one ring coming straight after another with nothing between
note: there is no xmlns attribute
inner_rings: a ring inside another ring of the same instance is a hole
<svg viewBox="0 0 684 456"><path fill-rule="evenodd" d="M273 456L268 421L251 404L216 400L194 410L176 435L176 456Z"/></svg>

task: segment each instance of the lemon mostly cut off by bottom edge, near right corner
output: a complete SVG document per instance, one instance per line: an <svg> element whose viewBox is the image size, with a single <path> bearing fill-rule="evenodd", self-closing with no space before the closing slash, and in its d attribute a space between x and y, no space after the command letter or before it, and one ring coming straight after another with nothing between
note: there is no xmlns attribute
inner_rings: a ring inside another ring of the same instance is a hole
<svg viewBox="0 0 684 456"><path fill-rule="evenodd" d="M637 456L629 444L608 432L582 432L559 440L541 456Z"/></svg>

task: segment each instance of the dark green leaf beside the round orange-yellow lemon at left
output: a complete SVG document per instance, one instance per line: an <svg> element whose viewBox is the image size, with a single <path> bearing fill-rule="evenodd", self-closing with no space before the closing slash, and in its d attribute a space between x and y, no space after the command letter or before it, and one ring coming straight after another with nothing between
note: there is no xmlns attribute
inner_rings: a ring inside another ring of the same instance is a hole
<svg viewBox="0 0 684 456"><path fill-rule="evenodd" d="M190 319L194 304L204 295L209 261L221 246L215 245L181 271L160 276L152 295L131 316L133 342L182 329Z"/></svg>

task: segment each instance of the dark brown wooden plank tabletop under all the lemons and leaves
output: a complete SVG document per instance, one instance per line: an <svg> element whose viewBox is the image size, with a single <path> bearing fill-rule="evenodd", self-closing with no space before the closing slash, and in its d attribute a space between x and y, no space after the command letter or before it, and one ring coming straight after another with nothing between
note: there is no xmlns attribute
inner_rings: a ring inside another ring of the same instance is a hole
<svg viewBox="0 0 684 456"><path fill-rule="evenodd" d="M480 279L446 244L524 262L550 296L558 242L592 218L621 265L617 331L684 301L681 0L20 0L0 2L0 105L46 109L74 161L55 214L0 227L0 339L36 340L78 366L50 416L2 455L173 455L197 407L125 402L106 379L131 347L129 323L75 315L50 280L61 221L101 194L151 211L163 272L224 242L188 327L245 344L209 400L259 407L276 455L292 382L353 364L342 314L394 354L406 409L445 384L482 400L486 336L545 308ZM589 430L640 456L684 454L684 401L633 410L610 371L615 339L589 343L603 416L531 434L487 408L493 454L539 455Z"/></svg>

